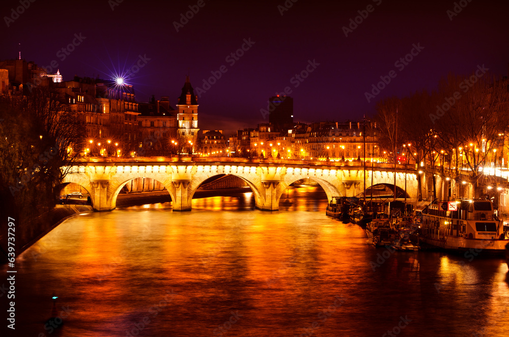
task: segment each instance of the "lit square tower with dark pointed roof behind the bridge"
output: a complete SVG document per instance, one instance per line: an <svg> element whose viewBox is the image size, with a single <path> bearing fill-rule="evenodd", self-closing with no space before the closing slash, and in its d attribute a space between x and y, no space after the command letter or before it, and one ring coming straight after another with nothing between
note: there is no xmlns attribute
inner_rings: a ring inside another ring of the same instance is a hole
<svg viewBox="0 0 509 337"><path fill-rule="evenodd" d="M179 97L179 104L177 104L177 120L178 120L178 142L181 146L181 153L192 154L197 149L197 136L198 136L198 102L197 96L189 81L189 76L186 76L186 82L182 87L182 94Z"/></svg>

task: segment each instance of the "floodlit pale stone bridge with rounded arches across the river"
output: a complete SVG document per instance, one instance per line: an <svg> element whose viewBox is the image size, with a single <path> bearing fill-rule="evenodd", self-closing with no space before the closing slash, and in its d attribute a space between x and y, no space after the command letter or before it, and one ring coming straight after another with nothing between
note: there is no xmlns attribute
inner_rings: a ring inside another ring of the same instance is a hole
<svg viewBox="0 0 509 337"><path fill-rule="evenodd" d="M371 163L366 163L365 187L372 181ZM393 164L376 163L373 185L394 184ZM417 196L415 167L397 165L396 185L406 188L408 198ZM354 196L364 190L362 162L326 162L285 159L201 158L201 157L91 157L72 166L63 184L76 183L86 189L97 211L115 209L122 187L134 178L146 177L162 183L172 198L174 211L191 210L196 189L216 175L235 175L243 179L254 194L256 207L261 210L278 209L285 189L300 179L316 181L332 196Z"/></svg>

